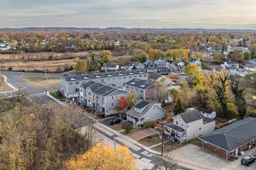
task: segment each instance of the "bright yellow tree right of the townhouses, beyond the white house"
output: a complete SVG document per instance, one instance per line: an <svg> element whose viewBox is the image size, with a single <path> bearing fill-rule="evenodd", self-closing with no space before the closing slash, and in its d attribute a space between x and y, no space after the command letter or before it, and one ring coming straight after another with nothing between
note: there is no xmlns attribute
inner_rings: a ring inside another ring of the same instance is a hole
<svg viewBox="0 0 256 170"><path fill-rule="evenodd" d="M196 66L195 64L185 66L185 74L192 79L195 85L202 85L202 71L200 66Z"/></svg>

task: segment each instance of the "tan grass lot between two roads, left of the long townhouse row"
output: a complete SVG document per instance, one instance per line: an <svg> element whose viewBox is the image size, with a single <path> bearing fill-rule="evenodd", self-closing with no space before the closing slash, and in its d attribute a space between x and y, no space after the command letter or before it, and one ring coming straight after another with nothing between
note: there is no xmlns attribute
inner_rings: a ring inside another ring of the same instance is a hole
<svg viewBox="0 0 256 170"><path fill-rule="evenodd" d="M33 87L45 87L44 76L22 76L23 81L28 81ZM60 77L48 77L47 87L54 87L61 85Z"/></svg>

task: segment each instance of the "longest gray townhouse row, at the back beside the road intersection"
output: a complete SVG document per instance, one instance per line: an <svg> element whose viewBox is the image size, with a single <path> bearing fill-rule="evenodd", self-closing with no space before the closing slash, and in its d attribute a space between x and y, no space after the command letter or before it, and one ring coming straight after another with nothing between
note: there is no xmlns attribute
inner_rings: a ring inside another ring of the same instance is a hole
<svg viewBox="0 0 256 170"><path fill-rule="evenodd" d="M82 83L88 83L90 80L123 88L124 83L133 79L147 80L148 74L145 70L106 70L105 72L96 71L85 74L74 71L61 76L61 91L67 98L79 97L79 87Z"/></svg>

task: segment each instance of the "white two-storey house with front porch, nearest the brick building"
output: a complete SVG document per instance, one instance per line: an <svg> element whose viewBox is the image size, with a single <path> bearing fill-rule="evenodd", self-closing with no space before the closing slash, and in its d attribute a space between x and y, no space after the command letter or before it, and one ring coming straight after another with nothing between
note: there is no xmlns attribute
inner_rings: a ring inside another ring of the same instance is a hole
<svg viewBox="0 0 256 170"><path fill-rule="evenodd" d="M215 121L203 117L196 109L178 114L172 118L172 123L164 125L164 134L168 134L171 139L177 138L178 141L197 138L215 129Z"/></svg>

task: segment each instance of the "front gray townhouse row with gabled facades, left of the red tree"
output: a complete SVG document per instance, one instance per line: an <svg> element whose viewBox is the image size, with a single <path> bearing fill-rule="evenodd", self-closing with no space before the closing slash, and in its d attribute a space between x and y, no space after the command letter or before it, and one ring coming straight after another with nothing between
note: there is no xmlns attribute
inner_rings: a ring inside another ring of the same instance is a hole
<svg viewBox="0 0 256 170"><path fill-rule="evenodd" d="M116 107L119 104L119 99L123 96L128 99L129 92L119 90L116 87L111 87L103 83L88 81L82 83L79 87L79 101L87 107L95 109L99 114L108 116L116 114Z"/></svg>

